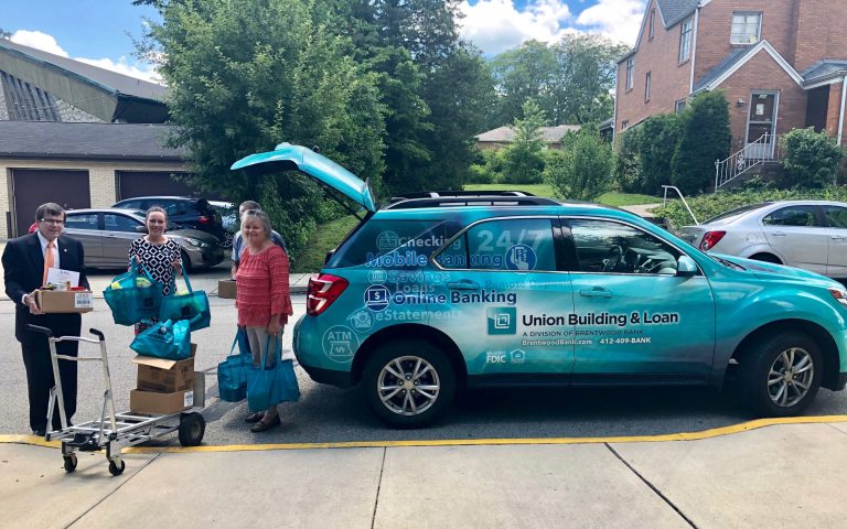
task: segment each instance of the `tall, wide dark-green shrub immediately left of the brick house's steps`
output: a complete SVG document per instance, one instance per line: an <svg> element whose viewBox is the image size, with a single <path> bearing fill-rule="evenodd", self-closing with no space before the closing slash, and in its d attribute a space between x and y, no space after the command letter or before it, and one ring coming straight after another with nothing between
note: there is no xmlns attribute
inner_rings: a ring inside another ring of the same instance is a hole
<svg viewBox="0 0 847 529"><path fill-rule="evenodd" d="M685 194L705 191L715 182L715 161L729 155L729 105L720 90L695 97L679 117L679 141L672 182Z"/></svg>

